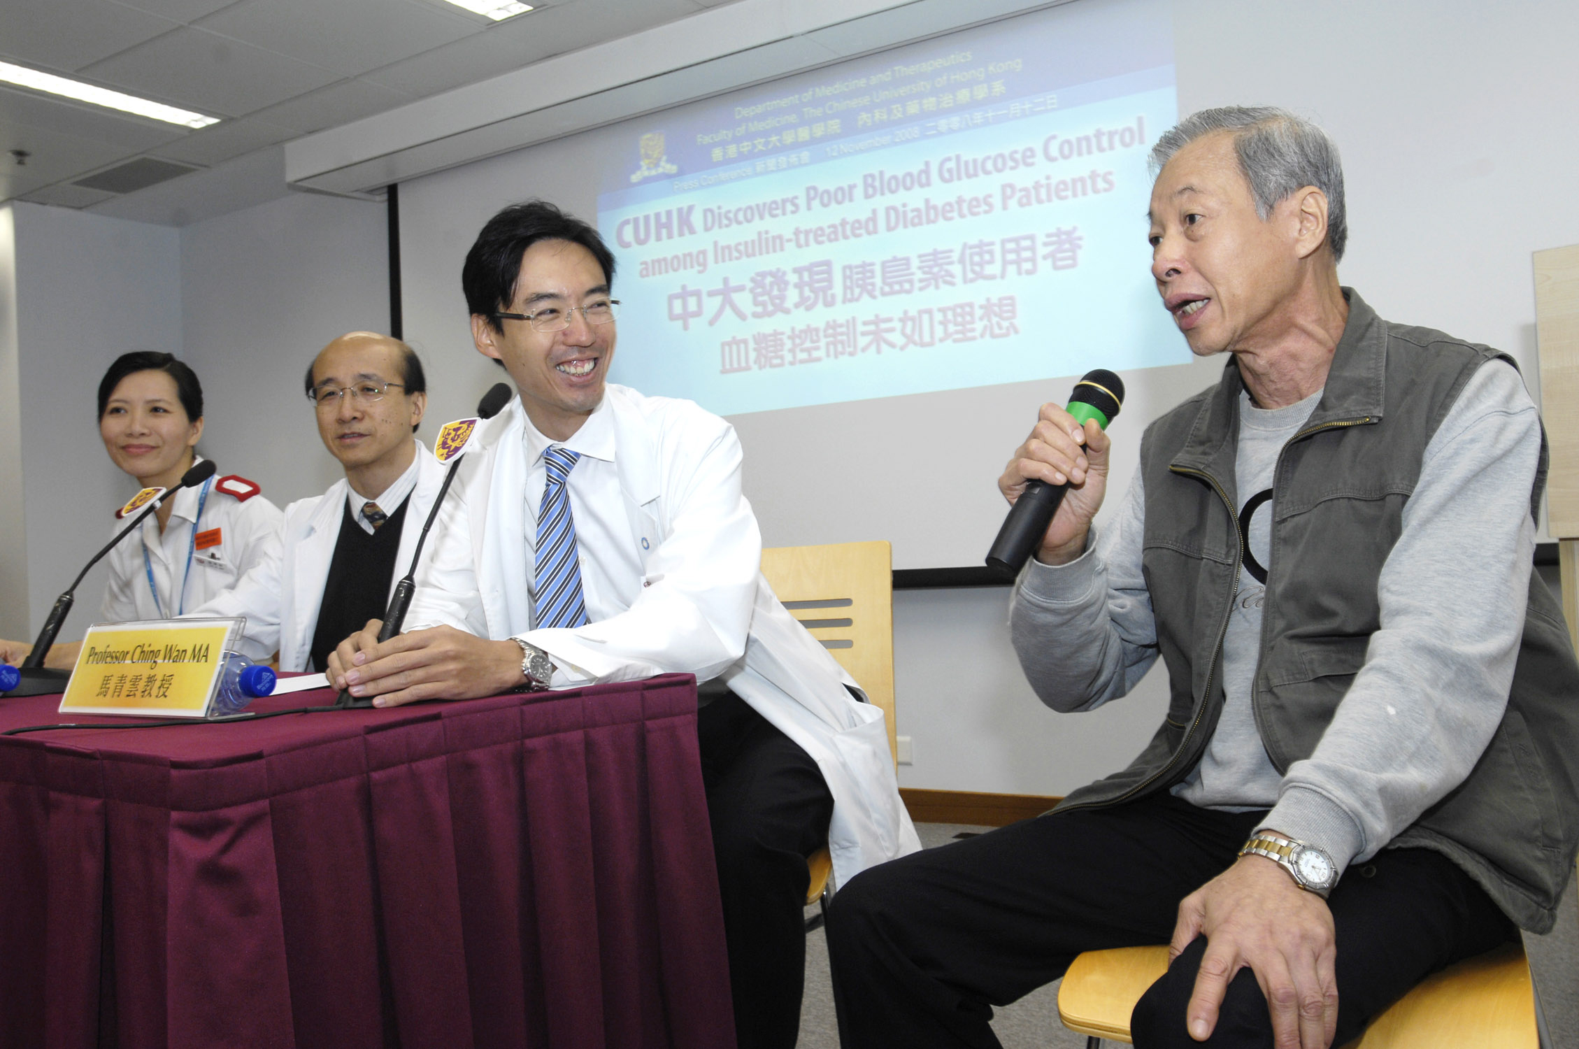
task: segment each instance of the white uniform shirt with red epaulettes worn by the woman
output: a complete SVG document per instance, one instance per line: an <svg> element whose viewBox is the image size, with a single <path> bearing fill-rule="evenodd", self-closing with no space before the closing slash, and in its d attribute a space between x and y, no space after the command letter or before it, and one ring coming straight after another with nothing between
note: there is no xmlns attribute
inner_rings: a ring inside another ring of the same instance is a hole
<svg viewBox="0 0 1579 1049"><path fill-rule="evenodd" d="M111 550L103 621L174 619L229 591L254 566L278 564L279 507L261 494L238 499L218 482L210 477L171 496L163 534L158 515L150 513L136 534ZM117 518L112 534L125 526ZM251 659L268 659L275 651L272 637L254 637L251 624L238 648Z"/></svg>

